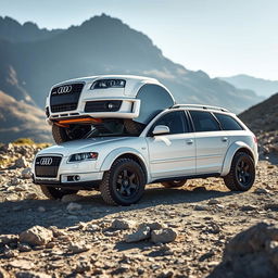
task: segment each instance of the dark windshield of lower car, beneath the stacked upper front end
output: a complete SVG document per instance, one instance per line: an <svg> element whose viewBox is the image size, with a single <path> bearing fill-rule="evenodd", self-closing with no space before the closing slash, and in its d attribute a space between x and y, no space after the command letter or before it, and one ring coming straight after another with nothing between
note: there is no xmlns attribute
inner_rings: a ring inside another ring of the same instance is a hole
<svg viewBox="0 0 278 278"><path fill-rule="evenodd" d="M131 119L105 119L91 126L91 130L85 138L96 137L138 137L144 128L144 125L136 123Z"/></svg>

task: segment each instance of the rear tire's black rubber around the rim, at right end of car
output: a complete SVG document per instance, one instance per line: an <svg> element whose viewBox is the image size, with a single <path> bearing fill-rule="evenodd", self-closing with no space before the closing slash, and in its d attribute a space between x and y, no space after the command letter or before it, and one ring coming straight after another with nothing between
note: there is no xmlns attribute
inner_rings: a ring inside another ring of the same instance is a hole
<svg viewBox="0 0 278 278"><path fill-rule="evenodd" d="M240 181L237 168L242 161L248 165L248 175L250 176L244 185L243 181ZM254 160L244 152L237 152L232 159L229 174L224 177L224 182L231 191L248 191L255 181L255 173Z"/></svg>

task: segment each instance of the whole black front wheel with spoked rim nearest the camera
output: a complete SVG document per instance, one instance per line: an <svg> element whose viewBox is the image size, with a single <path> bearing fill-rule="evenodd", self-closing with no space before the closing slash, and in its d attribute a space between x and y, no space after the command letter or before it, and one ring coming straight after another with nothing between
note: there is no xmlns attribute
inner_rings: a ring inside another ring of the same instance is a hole
<svg viewBox="0 0 278 278"><path fill-rule="evenodd" d="M100 192L109 204L130 205L141 199L144 186L146 177L141 166L134 160L118 159L104 173Z"/></svg>

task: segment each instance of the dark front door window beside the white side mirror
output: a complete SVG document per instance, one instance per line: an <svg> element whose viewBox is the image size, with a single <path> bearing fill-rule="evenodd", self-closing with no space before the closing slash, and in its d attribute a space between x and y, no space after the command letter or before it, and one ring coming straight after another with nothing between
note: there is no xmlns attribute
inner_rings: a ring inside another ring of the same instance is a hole
<svg viewBox="0 0 278 278"><path fill-rule="evenodd" d="M170 135L184 134L184 114L185 113L182 111L175 111L163 115L152 126L151 131L155 126L164 125L169 128Z"/></svg>

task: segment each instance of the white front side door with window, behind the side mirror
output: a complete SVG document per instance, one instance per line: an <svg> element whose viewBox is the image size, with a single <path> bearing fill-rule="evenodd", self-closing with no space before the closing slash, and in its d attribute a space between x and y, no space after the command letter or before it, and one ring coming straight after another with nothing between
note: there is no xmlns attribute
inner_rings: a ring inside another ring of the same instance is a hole
<svg viewBox="0 0 278 278"><path fill-rule="evenodd" d="M157 125L167 126L169 134L153 136ZM149 130L147 142L153 179L195 174L194 132L184 111L163 114Z"/></svg>

